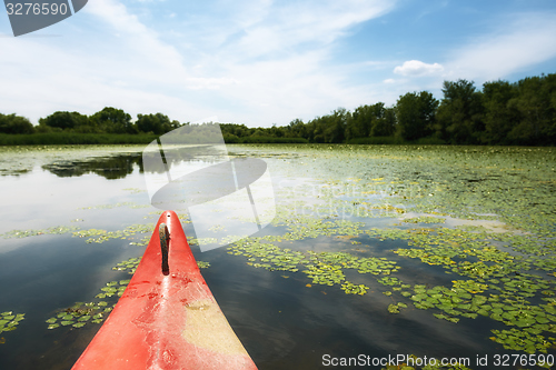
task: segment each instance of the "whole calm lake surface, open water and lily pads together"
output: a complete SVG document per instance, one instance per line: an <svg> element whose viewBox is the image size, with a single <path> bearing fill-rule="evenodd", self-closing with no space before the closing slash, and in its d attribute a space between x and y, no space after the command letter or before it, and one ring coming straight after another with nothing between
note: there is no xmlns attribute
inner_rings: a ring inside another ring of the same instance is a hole
<svg viewBox="0 0 556 370"><path fill-rule="evenodd" d="M160 210L142 149L0 148L0 323L24 313L0 332L0 369L69 369L100 328L108 312L63 317L115 304L103 293L131 277L115 268L145 251ZM272 223L201 253L181 216L259 369L331 368L328 359L360 354L492 369L498 356L556 356L554 148L228 151L267 162ZM518 369L513 361L503 368Z"/></svg>

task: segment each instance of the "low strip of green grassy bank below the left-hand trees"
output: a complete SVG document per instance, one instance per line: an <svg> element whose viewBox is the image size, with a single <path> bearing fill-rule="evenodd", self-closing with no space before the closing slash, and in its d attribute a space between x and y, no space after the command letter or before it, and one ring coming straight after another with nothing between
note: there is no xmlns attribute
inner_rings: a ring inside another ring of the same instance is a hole
<svg viewBox="0 0 556 370"><path fill-rule="evenodd" d="M0 133L0 146L48 146L48 144L148 144L156 134L113 134L49 132L30 134Z"/></svg>

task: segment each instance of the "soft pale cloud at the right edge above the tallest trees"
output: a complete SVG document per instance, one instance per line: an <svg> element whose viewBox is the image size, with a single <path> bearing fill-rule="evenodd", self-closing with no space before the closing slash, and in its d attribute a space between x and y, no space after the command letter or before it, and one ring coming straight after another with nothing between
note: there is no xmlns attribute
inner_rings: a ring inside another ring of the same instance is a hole
<svg viewBox="0 0 556 370"><path fill-rule="evenodd" d="M450 56L448 76L493 80L556 57L553 13L523 13ZM550 71L547 71L550 72Z"/></svg>

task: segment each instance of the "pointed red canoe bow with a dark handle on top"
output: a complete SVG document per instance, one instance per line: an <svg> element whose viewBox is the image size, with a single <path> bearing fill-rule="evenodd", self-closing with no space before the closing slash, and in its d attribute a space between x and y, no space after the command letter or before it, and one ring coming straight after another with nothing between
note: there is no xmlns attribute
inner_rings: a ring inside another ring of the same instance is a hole
<svg viewBox="0 0 556 370"><path fill-rule="evenodd" d="M72 369L257 369L202 278L172 211Z"/></svg>

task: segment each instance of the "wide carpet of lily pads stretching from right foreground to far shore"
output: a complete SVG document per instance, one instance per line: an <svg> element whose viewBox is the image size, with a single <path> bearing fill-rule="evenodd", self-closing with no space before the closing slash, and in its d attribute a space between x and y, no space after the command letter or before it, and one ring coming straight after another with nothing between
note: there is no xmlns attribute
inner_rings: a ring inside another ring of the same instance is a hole
<svg viewBox="0 0 556 370"><path fill-rule="evenodd" d="M525 178L502 177L505 172L515 172L516 167L508 160L510 157L499 150L495 150L494 156L489 153L489 157L483 154L483 149L470 152L441 151L441 156L438 156L438 151L427 150L421 152L423 156L414 156L407 148L396 148L394 151L399 153L393 156L388 151L388 157L368 148L349 150L350 157L345 158L345 166L335 173L336 178L300 187L300 198L288 194L290 199L287 207L278 207L272 224L285 226L287 232L249 239L246 244L250 247L236 244L229 253L247 257L249 266L268 270L300 269L312 284L340 283L346 288L356 286L346 280L346 269L355 268L356 264L367 266L370 273L384 274L378 279L379 283L391 287L391 291L385 291L385 294L399 294L418 309L431 310L441 320L456 323L483 316L518 332L533 330L535 336L553 332L555 321L550 310L556 302L549 299L555 290L554 280L528 273L536 270L552 274L556 269L556 234L554 217L549 216L556 206L556 198L554 194L546 197L548 189L556 184L550 180L554 176L552 171L536 171ZM512 152L519 150L512 149ZM342 152L338 150L335 154L341 157ZM315 158L320 159L322 156L319 152ZM350 163L358 157L371 163L376 158L385 166L374 166L374 177L354 176L357 167ZM546 168L540 157L538 159L536 166L524 168ZM486 161L488 166L485 166ZM439 164L425 164L430 162ZM454 163L458 167L457 171L453 170ZM414 176L408 176L409 168L409 173ZM341 173L347 172L350 176L342 181ZM471 177L468 177L469 172ZM529 186L524 186L524 182ZM300 200L311 193L309 201ZM534 209L528 208L534 198L530 196L543 200L536 202ZM367 228L355 222L349 226L349 221L342 220L342 227L351 227L351 230L335 231L339 229L336 227L339 217L398 218L400 213L407 213L408 209L423 216L406 218L404 223L428 223L430 227L409 230ZM464 224L439 227L446 224L448 219ZM469 223L465 224L465 221ZM389 239L407 242L408 248L393 250L398 260L419 259L439 267L454 276L451 286L410 286L395 280L396 277L389 276L399 269L393 268L397 267L394 260L388 260L394 263L389 266L390 269L380 269L373 267L376 260L364 263L359 257L349 253L298 251L298 254L291 254L275 244L334 236L346 236L338 238L344 241L361 234L378 241ZM259 249L265 250L266 254ZM297 256L300 260L296 261L297 264L277 264L279 257L285 256ZM363 272L366 270L361 269ZM545 303L533 303L533 300L528 300L533 298L535 302L540 298ZM398 307L390 304L390 312L396 311L394 306ZM550 342L552 337L546 338ZM524 350L524 347L518 350Z"/></svg>

